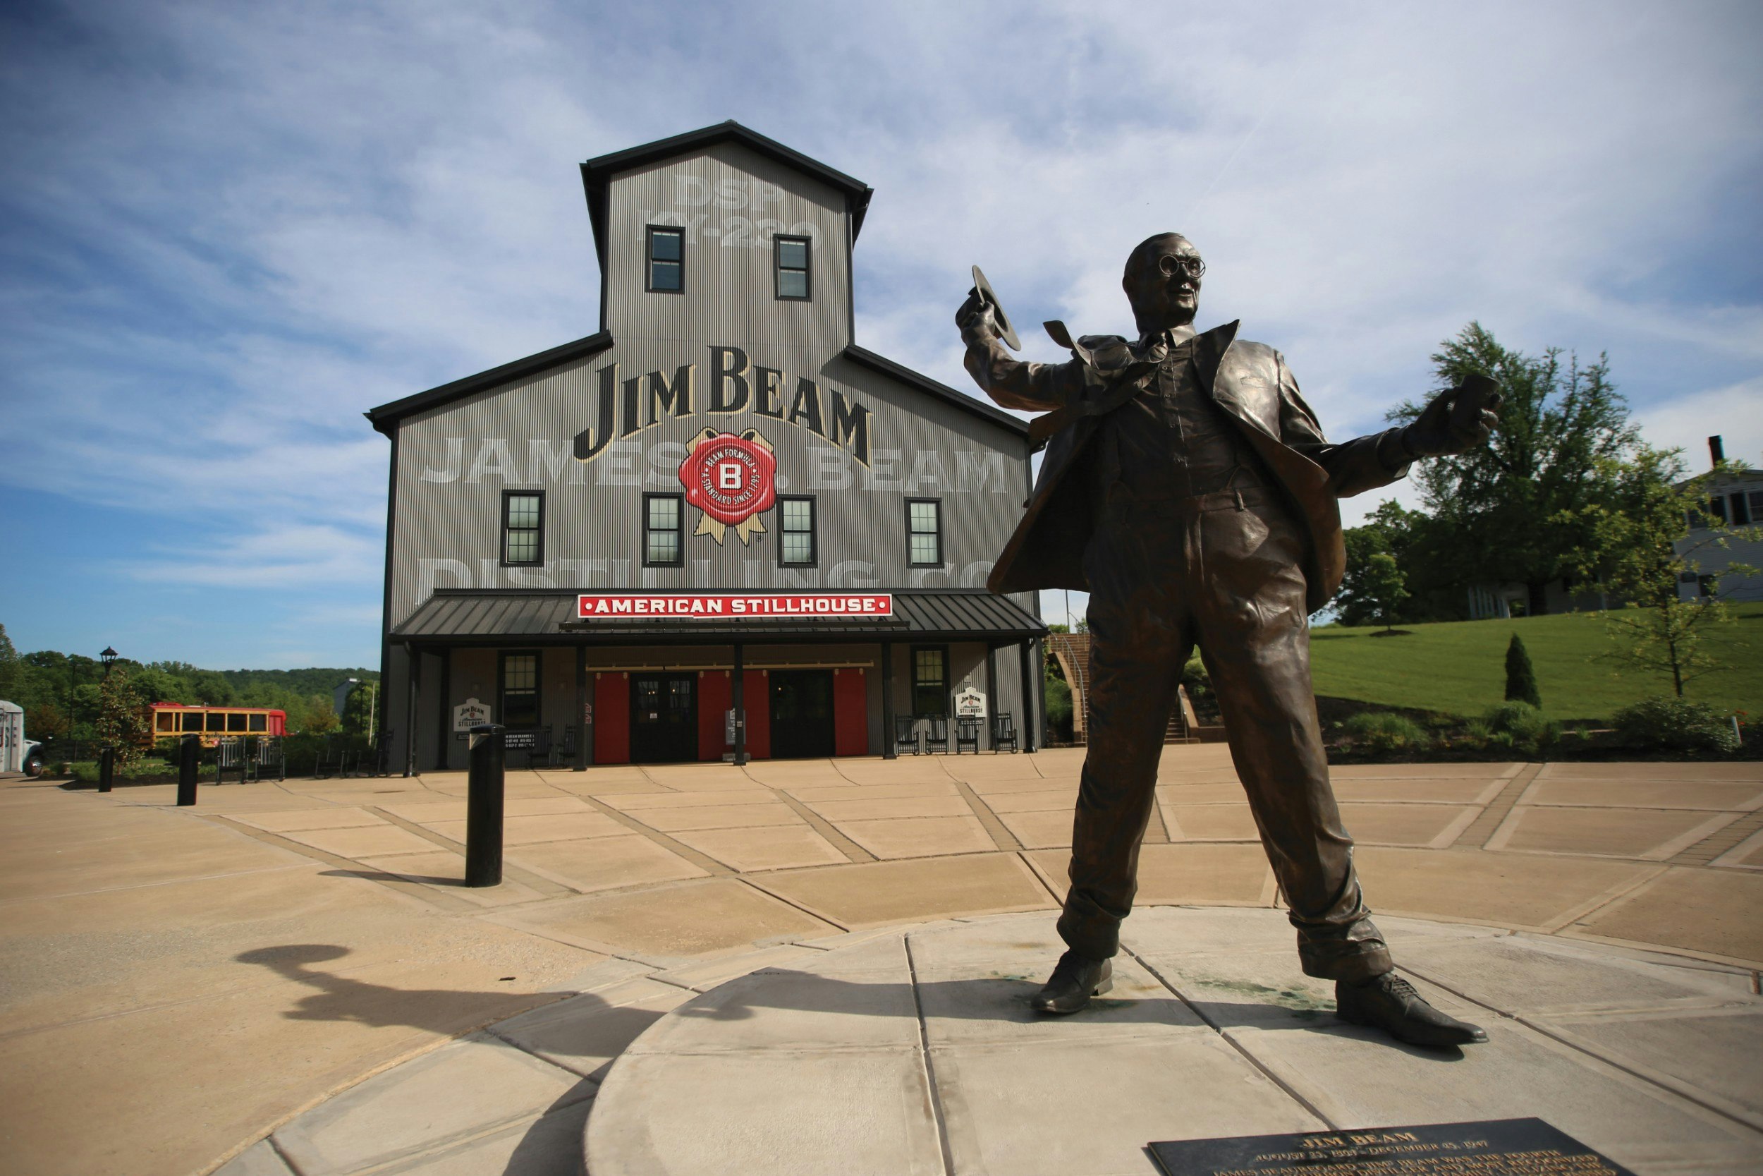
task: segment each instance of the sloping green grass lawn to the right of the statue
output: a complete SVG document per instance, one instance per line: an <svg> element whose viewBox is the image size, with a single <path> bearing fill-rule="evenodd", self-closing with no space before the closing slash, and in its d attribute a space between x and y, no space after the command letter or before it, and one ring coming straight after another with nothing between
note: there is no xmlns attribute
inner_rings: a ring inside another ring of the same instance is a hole
<svg viewBox="0 0 1763 1176"><path fill-rule="evenodd" d="M1730 711L1763 714L1763 605L1737 605L1731 624L1710 631L1715 658L1735 666L1696 679L1685 696ZM1543 709L1557 719L1604 719L1647 695L1670 695L1666 675L1641 675L1594 659L1610 649L1597 614L1516 621L1403 624L1412 636L1377 636L1373 628L1329 624L1310 631L1310 668L1319 695L1387 707L1477 716L1506 695L1506 644L1513 633L1530 651Z"/></svg>

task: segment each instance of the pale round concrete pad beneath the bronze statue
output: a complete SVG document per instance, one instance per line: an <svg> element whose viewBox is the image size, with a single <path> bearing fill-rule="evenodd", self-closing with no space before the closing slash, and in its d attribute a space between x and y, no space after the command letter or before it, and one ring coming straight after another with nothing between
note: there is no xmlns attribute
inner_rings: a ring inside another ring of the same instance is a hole
<svg viewBox="0 0 1763 1176"><path fill-rule="evenodd" d="M1763 1171L1763 998L1722 964L1488 927L1380 920L1456 1051L1333 1014L1273 910L1149 908L1114 991L1028 1010L1051 913L880 931L730 980L606 1074L591 1176L1155 1176L1144 1150L1537 1116L1636 1172Z"/></svg>

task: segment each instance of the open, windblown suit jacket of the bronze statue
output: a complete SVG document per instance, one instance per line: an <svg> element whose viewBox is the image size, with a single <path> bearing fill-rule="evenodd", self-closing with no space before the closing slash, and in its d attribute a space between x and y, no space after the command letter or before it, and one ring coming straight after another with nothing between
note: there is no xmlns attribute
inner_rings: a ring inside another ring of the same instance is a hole
<svg viewBox="0 0 1763 1176"><path fill-rule="evenodd" d="M1238 339L1236 330L1238 323L1227 323L1197 335L1194 365L1201 386L1243 430L1308 529L1306 607L1315 612L1335 596L1347 568L1336 499L1389 485L1407 471L1396 443L1400 430L1331 444L1298 395L1285 358L1266 344ZM1077 358L1058 368L1067 379L1035 381L1067 391L1061 400L1035 406L1058 411L1053 418L1058 432L1047 443L1028 513L986 582L993 592L1090 587L1084 547L1097 517L1091 441L1111 406L1135 395L1155 376L1155 365L1118 335L1084 337L1072 351Z"/></svg>

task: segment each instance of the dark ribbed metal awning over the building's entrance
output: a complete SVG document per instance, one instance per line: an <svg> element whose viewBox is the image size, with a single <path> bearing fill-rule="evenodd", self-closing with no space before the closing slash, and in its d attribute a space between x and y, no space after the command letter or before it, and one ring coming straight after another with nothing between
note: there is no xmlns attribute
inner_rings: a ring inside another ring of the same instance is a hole
<svg viewBox="0 0 1763 1176"><path fill-rule="evenodd" d="M658 592L659 594L659 592ZM577 589L437 589L391 631L391 640L444 645L728 645L897 642L915 638L1008 645L1047 626L986 589L894 591L892 617L779 617L763 621L631 617L577 621Z"/></svg>

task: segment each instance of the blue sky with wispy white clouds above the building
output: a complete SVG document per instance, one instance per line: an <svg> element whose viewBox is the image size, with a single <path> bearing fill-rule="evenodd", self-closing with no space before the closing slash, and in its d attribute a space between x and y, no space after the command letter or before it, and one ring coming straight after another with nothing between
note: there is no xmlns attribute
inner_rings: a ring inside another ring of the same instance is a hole
<svg viewBox="0 0 1763 1176"><path fill-rule="evenodd" d="M1280 347L1331 435L1479 319L1763 464L1759 44L1694 2L12 4L0 624L372 665L361 411L591 333L577 164L725 118L876 189L859 342L957 388L970 264L1125 331L1127 250L1178 229L1201 324Z"/></svg>

